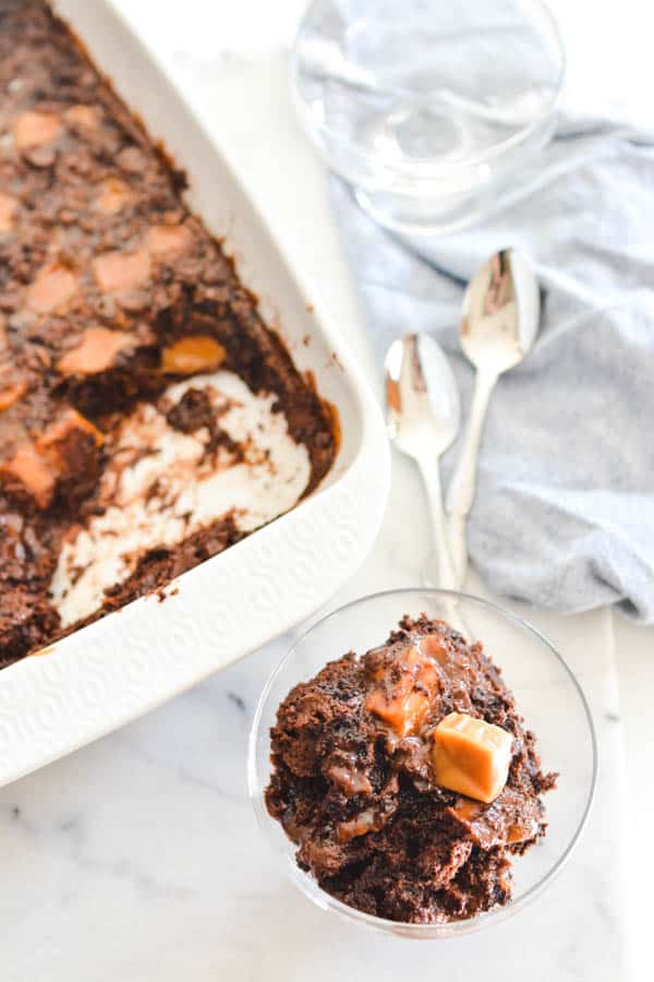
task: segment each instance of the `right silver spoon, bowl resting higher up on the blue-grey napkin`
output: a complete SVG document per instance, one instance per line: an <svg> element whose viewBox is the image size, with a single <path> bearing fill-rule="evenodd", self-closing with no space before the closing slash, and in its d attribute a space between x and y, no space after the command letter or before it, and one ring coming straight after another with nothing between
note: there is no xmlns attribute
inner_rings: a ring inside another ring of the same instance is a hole
<svg viewBox="0 0 654 982"><path fill-rule="evenodd" d="M474 397L455 474L447 492L448 541L455 583L468 568L467 523L475 494L480 441L491 393L519 364L538 331L541 300L531 263L514 249L496 252L470 282L463 299L460 342L476 368Z"/></svg>

